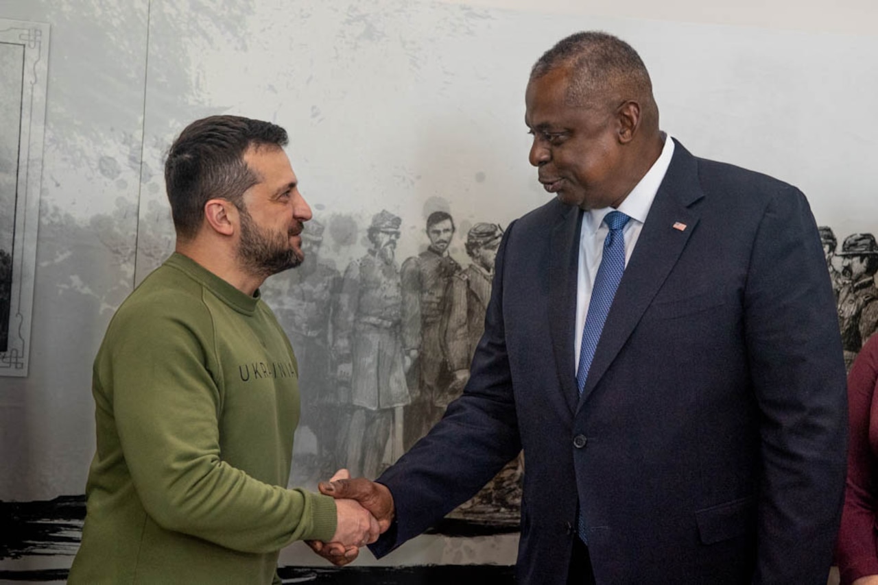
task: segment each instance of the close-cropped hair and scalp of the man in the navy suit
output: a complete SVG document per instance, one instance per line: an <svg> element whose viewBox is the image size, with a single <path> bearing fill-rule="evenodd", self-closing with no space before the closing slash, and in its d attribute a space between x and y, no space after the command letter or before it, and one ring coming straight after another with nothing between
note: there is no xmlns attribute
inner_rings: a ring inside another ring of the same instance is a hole
<svg viewBox="0 0 878 585"><path fill-rule="evenodd" d="M530 71L530 81L556 69L567 72L566 102L571 106L615 108L626 101L640 104L644 123L659 129L659 108L640 55L628 43L606 32L577 32L546 51Z"/></svg>

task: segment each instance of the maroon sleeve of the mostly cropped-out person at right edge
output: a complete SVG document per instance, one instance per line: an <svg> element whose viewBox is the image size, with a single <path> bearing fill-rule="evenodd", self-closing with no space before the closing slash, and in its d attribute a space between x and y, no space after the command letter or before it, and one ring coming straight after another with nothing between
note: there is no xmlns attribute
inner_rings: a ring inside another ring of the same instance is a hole
<svg viewBox="0 0 878 585"><path fill-rule="evenodd" d="M875 539L875 482L878 461L869 442L873 396L878 391L878 337L870 339L853 361L848 376L850 410L845 508L838 533L836 562L844 584L878 574Z"/></svg>

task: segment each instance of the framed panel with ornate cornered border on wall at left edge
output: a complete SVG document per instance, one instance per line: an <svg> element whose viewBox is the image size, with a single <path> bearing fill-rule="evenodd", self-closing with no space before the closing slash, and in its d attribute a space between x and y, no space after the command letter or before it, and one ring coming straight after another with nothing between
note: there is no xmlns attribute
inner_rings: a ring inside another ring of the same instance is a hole
<svg viewBox="0 0 878 585"><path fill-rule="evenodd" d="M0 376L26 376L49 27L0 18Z"/></svg>

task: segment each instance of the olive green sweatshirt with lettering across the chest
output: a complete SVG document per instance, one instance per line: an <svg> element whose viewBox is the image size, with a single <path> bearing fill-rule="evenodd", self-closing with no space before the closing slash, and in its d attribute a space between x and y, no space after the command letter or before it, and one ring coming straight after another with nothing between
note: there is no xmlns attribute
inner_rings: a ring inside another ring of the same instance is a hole
<svg viewBox="0 0 878 585"><path fill-rule="evenodd" d="M298 365L258 293L175 253L112 318L92 394L71 585L268 584L282 547L335 533L332 498L285 487Z"/></svg>

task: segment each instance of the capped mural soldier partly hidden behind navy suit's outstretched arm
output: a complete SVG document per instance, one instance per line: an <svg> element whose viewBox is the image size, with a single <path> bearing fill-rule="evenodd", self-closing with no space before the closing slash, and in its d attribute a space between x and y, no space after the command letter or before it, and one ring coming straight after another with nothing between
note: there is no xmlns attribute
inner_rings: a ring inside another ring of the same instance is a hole
<svg viewBox="0 0 878 585"><path fill-rule="evenodd" d="M500 225L479 223L466 234L466 253L471 263L451 279L443 315L445 355L453 382L448 401L460 396L470 377L472 354L485 332L485 310L491 297L494 259L503 230ZM444 406L447 406L445 403ZM443 406L443 407L444 407ZM510 461L476 496L450 513L450 517L508 518L518 521L522 503L523 454Z"/></svg>

